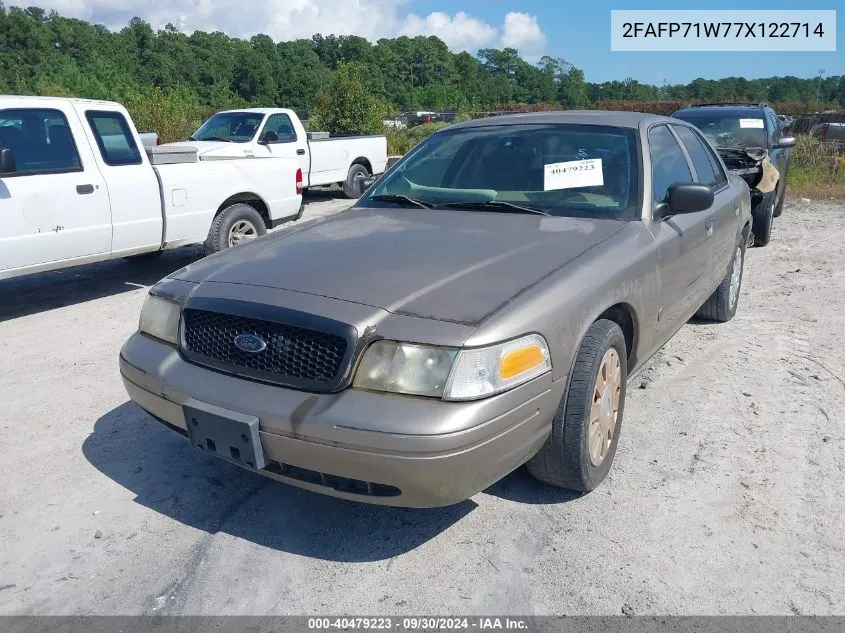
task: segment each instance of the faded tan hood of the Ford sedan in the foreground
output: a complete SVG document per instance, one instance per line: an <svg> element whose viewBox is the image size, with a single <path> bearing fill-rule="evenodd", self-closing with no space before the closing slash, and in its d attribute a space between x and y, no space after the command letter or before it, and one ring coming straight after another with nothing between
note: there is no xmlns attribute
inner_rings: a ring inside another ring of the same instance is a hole
<svg viewBox="0 0 845 633"><path fill-rule="evenodd" d="M171 277L266 286L477 324L623 226L614 220L355 208L200 260Z"/></svg>

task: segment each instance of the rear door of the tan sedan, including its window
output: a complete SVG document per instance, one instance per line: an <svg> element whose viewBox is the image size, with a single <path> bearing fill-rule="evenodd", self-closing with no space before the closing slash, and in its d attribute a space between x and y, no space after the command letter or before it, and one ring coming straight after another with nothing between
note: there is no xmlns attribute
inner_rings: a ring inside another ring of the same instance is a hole
<svg viewBox="0 0 845 633"><path fill-rule="evenodd" d="M692 160L696 182L713 191L713 213L706 227L710 242L710 262L707 270L713 289L724 278L731 261L736 236L739 234L739 199L728 184L728 177L716 158L710 144L686 125L673 125L681 143ZM723 264L723 265L722 265Z"/></svg>

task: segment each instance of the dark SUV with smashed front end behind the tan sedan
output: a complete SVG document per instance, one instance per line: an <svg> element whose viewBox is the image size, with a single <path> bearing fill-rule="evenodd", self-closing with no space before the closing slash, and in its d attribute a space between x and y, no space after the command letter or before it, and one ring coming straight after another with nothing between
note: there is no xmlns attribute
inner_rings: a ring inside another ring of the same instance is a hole
<svg viewBox="0 0 845 633"><path fill-rule="evenodd" d="M728 169L748 183L754 245L768 244L774 218L783 213L789 148L795 145L781 119L766 103L695 104L672 116L698 127Z"/></svg>

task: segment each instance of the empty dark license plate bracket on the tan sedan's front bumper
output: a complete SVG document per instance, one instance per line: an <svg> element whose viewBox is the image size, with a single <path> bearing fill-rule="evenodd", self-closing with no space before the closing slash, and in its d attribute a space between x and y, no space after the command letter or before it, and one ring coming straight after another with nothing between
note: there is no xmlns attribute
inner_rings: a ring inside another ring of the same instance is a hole
<svg viewBox="0 0 845 633"><path fill-rule="evenodd" d="M196 400L187 401L182 410L195 449L251 470L267 465L255 416Z"/></svg>

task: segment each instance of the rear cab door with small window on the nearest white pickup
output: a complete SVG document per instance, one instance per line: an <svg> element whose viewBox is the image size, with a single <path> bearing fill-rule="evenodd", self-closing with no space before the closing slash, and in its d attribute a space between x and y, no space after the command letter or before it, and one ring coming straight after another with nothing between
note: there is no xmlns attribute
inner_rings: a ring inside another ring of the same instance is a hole
<svg viewBox="0 0 845 633"><path fill-rule="evenodd" d="M95 141L94 155L108 186L112 252L157 250L163 239L161 189L131 119L117 109L75 107Z"/></svg>

